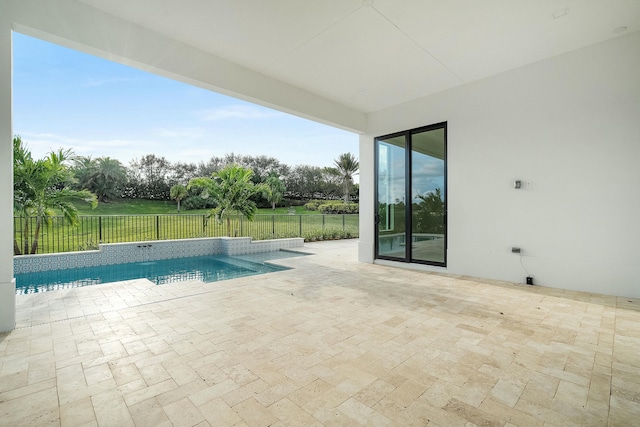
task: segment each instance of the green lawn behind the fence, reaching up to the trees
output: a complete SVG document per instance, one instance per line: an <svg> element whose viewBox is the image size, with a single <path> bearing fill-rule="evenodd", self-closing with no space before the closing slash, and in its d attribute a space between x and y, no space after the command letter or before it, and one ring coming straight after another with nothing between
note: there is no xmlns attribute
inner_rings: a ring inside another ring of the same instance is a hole
<svg viewBox="0 0 640 427"><path fill-rule="evenodd" d="M208 219L208 209L178 213L175 203L153 200L119 200L101 203L96 209L78 206L80 223L66 224L55 217L51 226L42 227L37 253L97 249L99 243L172 240L227 235L224 224ZM358 236L357 214L324 215L295 208L260 209L254 221L236 216L232 235L255 240L304 237L307 241L342 239ZM26 221L14 219L14 238L23 248L22 230ZM30 234L35 219L29 220ZM29 237L29 242L33 239Z"/></svg>

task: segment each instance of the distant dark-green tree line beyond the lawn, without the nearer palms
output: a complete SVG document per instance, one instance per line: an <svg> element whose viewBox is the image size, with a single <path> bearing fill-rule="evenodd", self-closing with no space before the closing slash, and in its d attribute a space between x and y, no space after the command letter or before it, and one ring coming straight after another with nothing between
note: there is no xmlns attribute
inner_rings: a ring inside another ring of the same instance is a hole
<svg viewBox="0 0 640 427"><path fill-rule="evenodd" d="M183 209L213 207L195 191L186 189L189 181L210 177L229 165L253 171L251 181L268 184L271 190L261 192L254 201L262 207L273 207L282 201L298 203L311 199L358 200L358 186L353 176L358 161L351 153L340 155L332 166L289 166L275 157L226 154L213 156L207 162L171 162L165 157L147 154L133 159L128 166L109 157L76 157L71 172L75 189L88 189L101 202L118 199L179 200ZM172 194L172 188L173 194ZM280 197L278 197L280 195Z"/></svg>

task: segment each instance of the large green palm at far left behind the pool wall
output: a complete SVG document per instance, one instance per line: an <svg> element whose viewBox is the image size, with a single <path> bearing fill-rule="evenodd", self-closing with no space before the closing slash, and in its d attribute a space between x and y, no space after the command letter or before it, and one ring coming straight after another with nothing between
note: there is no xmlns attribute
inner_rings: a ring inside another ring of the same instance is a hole
<svg viewBox="0 0 640 427"><path fill-rule="evenodd" d="M88 190L71 190L66 184L71 180L71 174L65 163L71 157L70 150L59 150L49 153L41 160L33 160L31 153L17 136L13 139L13 209L16 214L25 219L22 228L24 247L21 250L14 238L13 250L15 255L35 254L38 251L38 234L43 224L51 224L51 218L56 210L62 213L67 223L78 223L78 209L76 202L87 202L92 207L98 205L96 195ZM29 245L29 218L35 217L36 227Z"/></svg>

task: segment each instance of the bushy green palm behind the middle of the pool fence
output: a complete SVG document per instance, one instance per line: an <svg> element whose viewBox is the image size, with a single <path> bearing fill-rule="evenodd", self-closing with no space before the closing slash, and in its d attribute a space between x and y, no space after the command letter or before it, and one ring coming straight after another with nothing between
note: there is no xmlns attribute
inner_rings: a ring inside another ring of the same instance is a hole
<svg viewBox="0 0 640 427"><path fill-rule="evenodd" d="M188 189L200 190L202 198L212 198L216 207L211 210L219 222L226 220L227 235L231 237L231 214L237 212L249 221L253 221L256 204L250 200L262 191L262 185L251 181L253 171L235 164L225 166L211 174L211 178L199 177L189 181Z"/></svg>

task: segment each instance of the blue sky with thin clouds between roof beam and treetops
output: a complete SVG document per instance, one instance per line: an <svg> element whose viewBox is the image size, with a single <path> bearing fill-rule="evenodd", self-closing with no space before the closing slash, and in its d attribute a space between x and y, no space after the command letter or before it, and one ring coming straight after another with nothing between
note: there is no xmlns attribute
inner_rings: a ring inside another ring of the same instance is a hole
<svg viewBox="0 0 640 427"><path fill-rule="evenodd" d="M128 165L227 153L331 166L358 136L14 33L13 132L35 158L71 148Z"/></svg>

